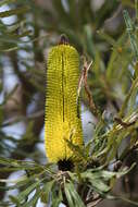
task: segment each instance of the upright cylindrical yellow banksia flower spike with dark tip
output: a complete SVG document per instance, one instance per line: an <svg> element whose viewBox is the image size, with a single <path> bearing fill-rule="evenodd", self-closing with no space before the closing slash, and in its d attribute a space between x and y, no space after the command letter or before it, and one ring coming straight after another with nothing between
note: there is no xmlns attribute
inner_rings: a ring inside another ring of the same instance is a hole
<svg viewBox="0 0 138 207"><path fill-rule="evenodd" d="M79 57L76 49L62 37L48 56L45 142L51 162L74 160L74 151L66 139L83 146L83 130L77 106ZM70 163L70 162L68 162Z"/></svg>

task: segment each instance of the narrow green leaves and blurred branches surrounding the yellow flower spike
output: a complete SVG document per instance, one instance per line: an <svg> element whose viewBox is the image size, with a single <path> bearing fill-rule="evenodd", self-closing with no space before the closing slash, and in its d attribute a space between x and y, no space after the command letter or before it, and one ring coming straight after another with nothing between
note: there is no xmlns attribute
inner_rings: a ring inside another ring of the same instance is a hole
<svg viewBox="0 0 138 207"><path fill-rule="evenodd" d="M0 206L138 205L137 29L137 0L0 1ZM92 136L83 151L68 143L80 162L64 173L42 134L47 53L63 33L81 71L93 61L81 88Z"/></svg>

